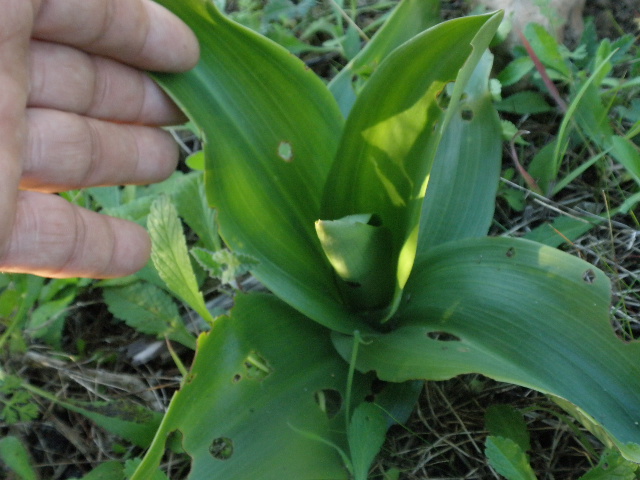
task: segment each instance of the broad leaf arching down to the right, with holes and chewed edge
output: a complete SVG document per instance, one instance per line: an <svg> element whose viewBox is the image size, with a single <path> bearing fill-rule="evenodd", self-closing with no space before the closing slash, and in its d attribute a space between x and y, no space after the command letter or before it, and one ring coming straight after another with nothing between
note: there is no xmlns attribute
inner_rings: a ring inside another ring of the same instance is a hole
<svg viewBox="0 0 640 480"><path fill-rule="evenodd" d="M616 337L610 300L600 270L556 249L508 238L451 242L416 262L397 328L363 335L358 368L389 381L476 372L549 393L640 461L640 344ZM335 343L349 358L350 338Z"/></svg>

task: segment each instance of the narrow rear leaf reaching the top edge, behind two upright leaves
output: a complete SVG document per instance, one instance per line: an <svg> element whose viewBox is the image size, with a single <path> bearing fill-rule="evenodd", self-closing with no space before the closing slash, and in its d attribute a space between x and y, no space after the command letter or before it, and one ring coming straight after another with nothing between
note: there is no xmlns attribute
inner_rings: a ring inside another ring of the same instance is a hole
<svg viewBox="0 0 640 480"><path fill-rule="evenodd" d="M354 75L370 75L395 48L440 21L439 0L404 0L371 41L329 83L329 90L348 116L356 101Z"/></svg>

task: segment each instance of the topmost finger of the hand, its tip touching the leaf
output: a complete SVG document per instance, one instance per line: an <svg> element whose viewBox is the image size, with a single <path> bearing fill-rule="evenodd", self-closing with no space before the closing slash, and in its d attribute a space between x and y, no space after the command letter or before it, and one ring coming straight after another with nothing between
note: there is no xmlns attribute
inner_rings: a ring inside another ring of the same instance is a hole
<svg viewBox="0 0 640 480"><path fill-rule="evenodd" d="M199 54L191 30L151 0L41 0L34 37L144 70L186 70Z"/></svg>

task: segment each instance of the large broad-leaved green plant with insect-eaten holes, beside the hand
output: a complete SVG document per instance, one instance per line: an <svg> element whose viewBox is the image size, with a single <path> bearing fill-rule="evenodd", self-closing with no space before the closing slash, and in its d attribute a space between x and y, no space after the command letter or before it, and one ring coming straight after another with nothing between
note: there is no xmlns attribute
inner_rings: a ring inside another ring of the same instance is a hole
<svg viewBox="0 0 640 480"><path fill-rule="evenodd" d="M179 432L192 478L365 479L415 401L414 380L468 372L571 402L640 461L640 351L609 325L608 279L556 249L485 236L500 125L484 52L500 15L414 31L400 46L383 29L361 54L375 59L361 89L330 86L351 92L339 106L301 62L212 3L161 3L194 29L202 60L156 79L202 131L223 239L274 295L238 295L200 336L132 478L149 478ZM406 0L396 15L424 5ZM168 205L150 217L155 263L201 311ZM376 376L389 382L380 392Z"/></svg>

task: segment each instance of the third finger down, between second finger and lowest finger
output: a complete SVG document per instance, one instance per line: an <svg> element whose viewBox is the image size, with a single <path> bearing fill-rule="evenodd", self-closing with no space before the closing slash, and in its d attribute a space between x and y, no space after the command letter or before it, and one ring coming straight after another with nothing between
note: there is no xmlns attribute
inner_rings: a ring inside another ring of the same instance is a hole
<svg viewBox="0 0 640 480"><path fill-rule="evenodd" d="M169 133L55 110L30 109L21 188L60 192L96 185L153 183L175 170Z"/></svg>

